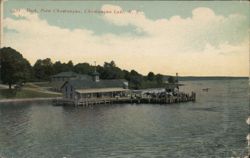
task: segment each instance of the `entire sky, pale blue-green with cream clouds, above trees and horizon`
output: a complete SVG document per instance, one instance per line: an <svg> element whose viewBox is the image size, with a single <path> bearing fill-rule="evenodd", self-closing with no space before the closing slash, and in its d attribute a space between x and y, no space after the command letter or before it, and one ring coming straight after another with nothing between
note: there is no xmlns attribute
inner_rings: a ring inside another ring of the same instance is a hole
<svg viewBox="0 0 250 158"><path fill-rule="evenodd" d="M37 59L181 76L248 76L247 1L5 0L3 43Z"/></svg>

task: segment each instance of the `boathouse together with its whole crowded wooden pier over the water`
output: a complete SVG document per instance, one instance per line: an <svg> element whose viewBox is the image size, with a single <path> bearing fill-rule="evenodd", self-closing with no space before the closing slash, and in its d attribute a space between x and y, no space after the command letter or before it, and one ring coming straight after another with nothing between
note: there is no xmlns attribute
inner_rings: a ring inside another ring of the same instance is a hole
<svg viewBox="0 0 250 158"><path fill-rule="evenodd" d="M179 92L180 85L168 84L162 87L161 91L149 90L146 95L143 95L142 90L129 90L126 80L101 80L99 73L95 71L92 80L70 79L66 81L61 87L63 98L53 100L53 104L89 106L107 103L171 104L195 101L194 92L191 95Z"/></svg>

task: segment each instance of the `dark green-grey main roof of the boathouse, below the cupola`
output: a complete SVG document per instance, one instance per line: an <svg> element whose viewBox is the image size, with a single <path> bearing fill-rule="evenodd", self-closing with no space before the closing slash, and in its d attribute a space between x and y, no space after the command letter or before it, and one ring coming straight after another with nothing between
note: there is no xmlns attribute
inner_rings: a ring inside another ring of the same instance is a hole
<svg viewBox="0 0 250 158"><path fill-rule="evenodd" d="M93 80L69 80L64 83L66 85L69 83L75 89L92 89L92 88L123 88L125 86L124 82L126 80L100 80L94 82ZM62 88L64 87L62 86Z"/></svg>

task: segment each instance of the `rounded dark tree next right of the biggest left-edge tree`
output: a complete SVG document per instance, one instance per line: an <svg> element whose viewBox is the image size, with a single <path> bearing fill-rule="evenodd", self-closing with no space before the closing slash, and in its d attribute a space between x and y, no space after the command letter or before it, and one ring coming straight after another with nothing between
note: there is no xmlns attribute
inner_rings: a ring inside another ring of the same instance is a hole
<svg viewBox="0 0 250 158"><path fill-rule="evenodd" d="M34 64L33 71L37 79L48 81L50 76L54 74L54 68L51 59L38 59Z"/></svg>

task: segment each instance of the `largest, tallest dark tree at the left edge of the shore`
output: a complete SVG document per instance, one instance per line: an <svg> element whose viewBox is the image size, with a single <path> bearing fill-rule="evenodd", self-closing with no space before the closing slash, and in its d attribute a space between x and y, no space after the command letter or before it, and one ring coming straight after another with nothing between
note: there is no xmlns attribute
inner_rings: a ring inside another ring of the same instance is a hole
<svg viewBox="0 0 250 158"><path fill-rule="evenodd" d="M15 49L4 47L0 49L1 77L3 83L9 85L25 82L31 77L31 65Z"/></svg>

